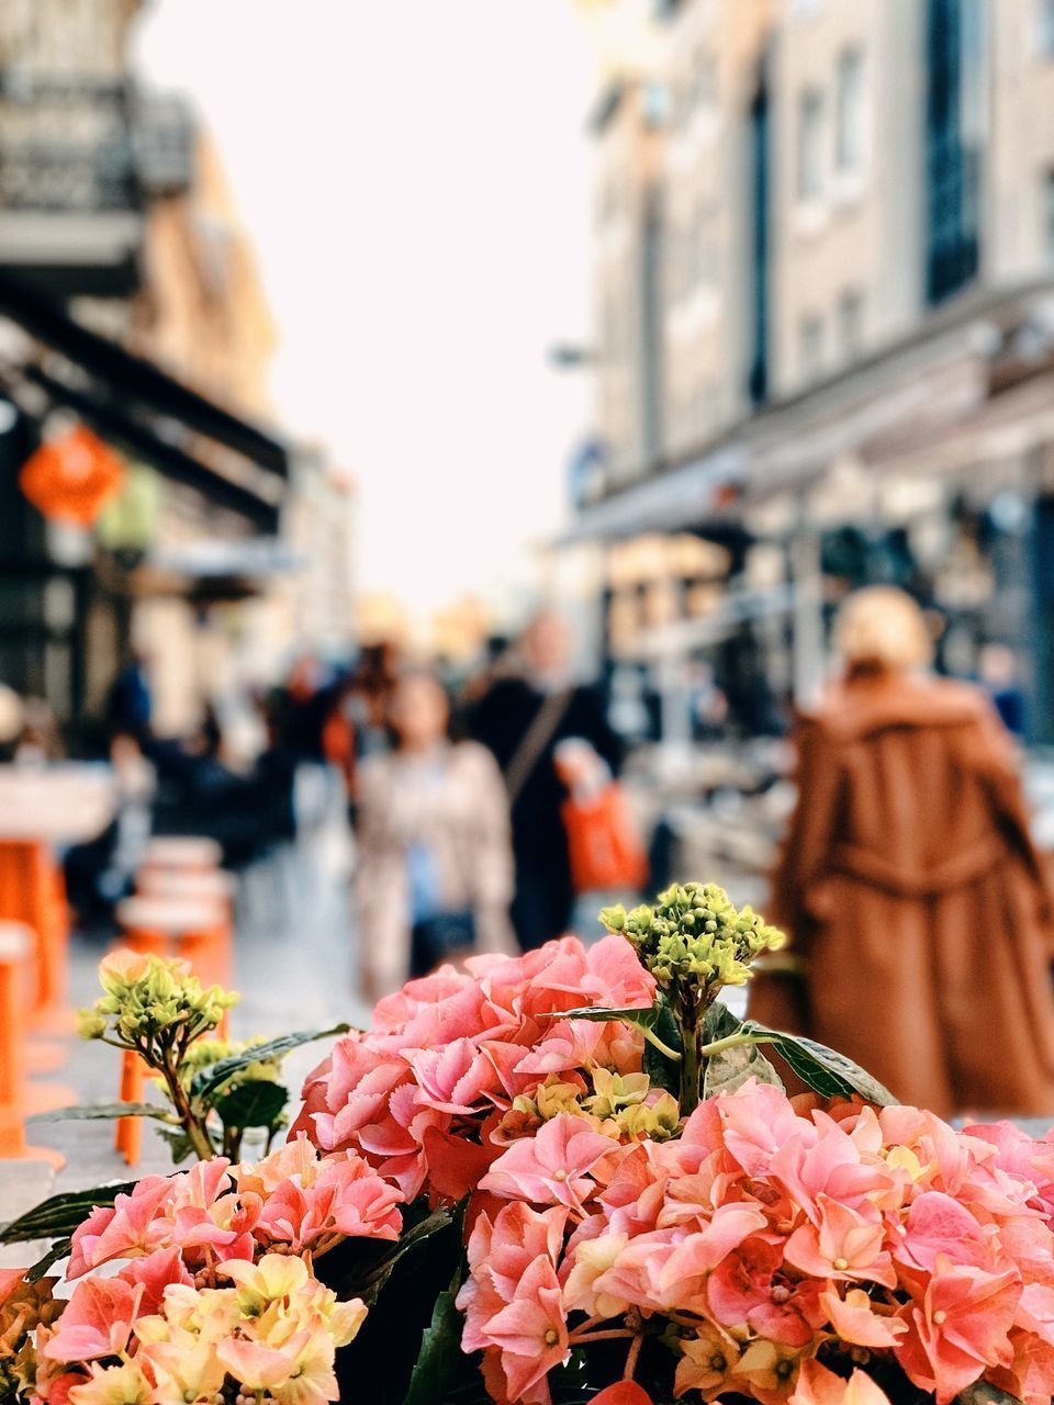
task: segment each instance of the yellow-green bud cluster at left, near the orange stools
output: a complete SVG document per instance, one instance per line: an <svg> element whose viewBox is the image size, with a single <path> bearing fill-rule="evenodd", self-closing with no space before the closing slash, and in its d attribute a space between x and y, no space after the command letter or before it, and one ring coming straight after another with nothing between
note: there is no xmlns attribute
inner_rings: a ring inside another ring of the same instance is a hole
<svg viewBox="0 0 1054 1405"><path fill-rule="evenodd" d="M138 1047L157 1037L197 1037L214 1030L239 996L202 986L186 961L117 951L98 968L104 995L80 1014L84 1038L108 1037Z"/></svg>

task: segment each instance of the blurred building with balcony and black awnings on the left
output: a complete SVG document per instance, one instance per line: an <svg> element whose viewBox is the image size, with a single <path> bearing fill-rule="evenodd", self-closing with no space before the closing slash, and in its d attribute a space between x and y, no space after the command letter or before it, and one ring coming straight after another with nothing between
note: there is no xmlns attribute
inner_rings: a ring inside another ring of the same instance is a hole
<svg viewBox="0 0 1054 1405"><path fill-rule="evenodd" d="M0 679L76 724L135 646L176 729L294 642L347 642L353 516L260 429L275 332L207 133L129 72L139 11L0 7ZM126 469L94 530L18 486L73 423Z"/></svg>

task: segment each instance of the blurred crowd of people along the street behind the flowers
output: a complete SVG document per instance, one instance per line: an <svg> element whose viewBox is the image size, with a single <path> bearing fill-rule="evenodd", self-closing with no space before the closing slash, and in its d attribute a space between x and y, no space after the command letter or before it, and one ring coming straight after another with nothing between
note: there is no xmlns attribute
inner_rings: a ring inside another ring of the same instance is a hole
<svg viewBox="0 0 1054 1405"><path fill-rule="evenodd" d="M847 599L833 646L826 694L791 724L795 799L765 898L790 948L752 985L750 1013L919 1106L1054 1111L1054 888L1030 833L1006 660L992 655L984 686L936 676L932 621L891 587ZM537 948L573 927L583 895L713 877L680 871L662 806L642 823L639 781L630 804L617 707L575 677L555 614L460 674L392 643L344 669L301 659L252 698L249 763L211 707L191 735L159 736L149 676L149 658L128 660L80 747L108 764L117 797L105 830L65 853L84 930L107 929L150 835L209 836L230 868L291 844L305 771L327 778L353 836L371 1000L447 961ZM700 717L722 736L711 677ZM0 760L62 756L48 708L0 691Z"/></svg>

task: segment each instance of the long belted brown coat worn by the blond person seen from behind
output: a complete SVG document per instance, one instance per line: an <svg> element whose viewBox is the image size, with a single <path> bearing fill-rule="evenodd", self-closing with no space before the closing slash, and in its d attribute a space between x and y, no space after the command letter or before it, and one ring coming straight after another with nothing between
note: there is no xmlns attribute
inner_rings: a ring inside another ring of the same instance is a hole
<svg viewBox="0 0 1054 1405"><path fill-rule="evenodd" d="M807 960L795 1033L944 1116L1054 1113L1051 902L988 702L963 684L860 676L797 740L770 913ZM759 979L756 1019L786 1019L777 989Z"/></svg>

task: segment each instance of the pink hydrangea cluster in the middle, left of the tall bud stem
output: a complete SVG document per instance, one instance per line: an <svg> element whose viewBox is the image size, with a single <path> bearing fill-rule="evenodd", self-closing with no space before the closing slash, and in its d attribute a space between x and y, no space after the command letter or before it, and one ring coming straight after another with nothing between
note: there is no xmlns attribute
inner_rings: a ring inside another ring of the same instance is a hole
<svg viewBox="0 0 1054 1405"><path fill-rule="evenodd" d="M381 1000L371 1030L339 1040L308 1078L294 1131L326 1152L358 1152L408 1200L460 1200L510 1139L559 1111L609 1139L676 1127L672 1100L642 1076L637 1028L559 1019L651 1007L655 979L623 937L589 948L564 937L467 967L410 981Z"/></svg>

